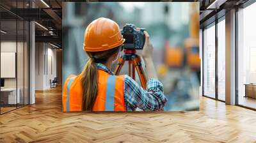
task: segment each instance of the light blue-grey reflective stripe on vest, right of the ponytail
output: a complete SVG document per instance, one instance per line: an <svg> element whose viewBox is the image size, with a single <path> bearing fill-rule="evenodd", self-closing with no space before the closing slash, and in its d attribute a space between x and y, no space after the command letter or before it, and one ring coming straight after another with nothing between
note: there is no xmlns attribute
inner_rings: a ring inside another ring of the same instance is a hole
<svg viewBox="0 0 256 143"><path fill-rule="evenodd" d="M114 110L115 83L116 83L115 75L109 75L108 81L107 81L107 89L106 89L106 103L105 103L106 111Z"/></svg>

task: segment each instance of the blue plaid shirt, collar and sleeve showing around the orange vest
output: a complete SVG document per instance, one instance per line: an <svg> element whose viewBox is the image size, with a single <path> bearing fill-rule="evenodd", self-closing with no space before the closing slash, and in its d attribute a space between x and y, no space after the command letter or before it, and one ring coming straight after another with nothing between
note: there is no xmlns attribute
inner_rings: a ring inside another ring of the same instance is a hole
<svg viewBox="0 0 256 143"><path fill-rule="evenodd" d="M97 63L97 67L114 75L104 64ZM144 90L128 75L124 76L124 100L127 111L134 111L137 107L142 110L161 110L167 102L163 84L159 80L149 79L147 90Z"/></svg>

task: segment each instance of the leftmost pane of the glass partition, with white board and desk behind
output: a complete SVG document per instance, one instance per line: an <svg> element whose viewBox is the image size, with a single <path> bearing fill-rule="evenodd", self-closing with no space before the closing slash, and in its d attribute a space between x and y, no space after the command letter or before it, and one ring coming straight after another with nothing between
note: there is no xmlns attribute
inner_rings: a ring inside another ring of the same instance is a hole
<svg viewBox="0 0 256 143"><path fill-rule="evenodd" d="M1 21L1 114L16 109L17 21ZM19 94L18 94L19 95Z"/></svg>

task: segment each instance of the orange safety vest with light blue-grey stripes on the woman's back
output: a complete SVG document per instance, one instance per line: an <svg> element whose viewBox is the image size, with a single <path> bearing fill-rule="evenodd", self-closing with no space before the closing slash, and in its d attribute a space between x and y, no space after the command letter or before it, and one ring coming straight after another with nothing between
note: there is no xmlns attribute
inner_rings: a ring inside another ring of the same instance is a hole
<svg viewBox="0 0 256 143"><path fill-rule="evenodd" d="M82 111L82 75L70 75L63 86L63 111ZM98 70L98 92L93 111L126 111L124 103L124 75L109 75ZM86 87L85 87L86 88Z"/></svg>

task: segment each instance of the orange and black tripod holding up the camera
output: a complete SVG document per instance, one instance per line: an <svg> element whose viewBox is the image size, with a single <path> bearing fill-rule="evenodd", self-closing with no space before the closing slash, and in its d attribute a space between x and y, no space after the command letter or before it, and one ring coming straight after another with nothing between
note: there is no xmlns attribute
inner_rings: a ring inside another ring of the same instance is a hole
<svg viewBox="0 0 256 143"><path fill-rule="evenodd" d="M140 59L140 56L136 54L135 50L124 50L124 55L121 57L118 57L118 63L115 68L115 75L118 75L120 73L120 70L122 66L124 66L125 61L129 61L128 75L130 77L132 75L132 79L135 80L135 69L136 69L140 77L141 86L143 87L143 89L146 89L147 82L146 82L146 77L145 77L143 68L141 67L141 59Z"/></svg>

